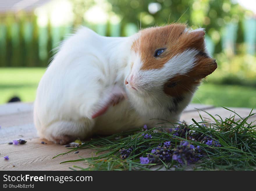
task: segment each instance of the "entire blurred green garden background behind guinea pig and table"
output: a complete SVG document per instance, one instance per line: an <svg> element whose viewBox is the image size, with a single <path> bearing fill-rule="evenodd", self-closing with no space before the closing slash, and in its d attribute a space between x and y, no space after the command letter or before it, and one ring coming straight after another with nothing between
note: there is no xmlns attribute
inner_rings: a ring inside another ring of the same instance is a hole
<svg viewBox="0 0 256 191"><path fill-rule="evenodd" d="M254 0L9 0L0 3L0 104L33 101L54 48L80 25L100 35L128 36L140 28L186 22L206 29L218 68L194 103L256 106Z"/></svg>

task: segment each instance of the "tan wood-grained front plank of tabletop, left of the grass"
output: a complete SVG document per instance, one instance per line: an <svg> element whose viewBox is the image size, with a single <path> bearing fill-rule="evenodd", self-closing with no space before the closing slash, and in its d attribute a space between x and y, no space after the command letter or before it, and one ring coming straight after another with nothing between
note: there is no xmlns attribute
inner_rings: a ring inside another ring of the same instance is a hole
<svg viewBox="0 0 256 191"><path fill-rule="evenodd" d="M65 160L79 159L79 156L90 157L93 153L92 149L80 149L77 154L70 152L53 159L52 157L56 154L69 150L63 145L46 140L44 141L47 144L41 144L41 141L42 139L34 138L22 145L0 144L0 170L71 170L69 167L72 165L80 167L87 167L87 165L84 162L60 163ZM9 160L3 160L3 156L6 155L9 156Z"/></svg>

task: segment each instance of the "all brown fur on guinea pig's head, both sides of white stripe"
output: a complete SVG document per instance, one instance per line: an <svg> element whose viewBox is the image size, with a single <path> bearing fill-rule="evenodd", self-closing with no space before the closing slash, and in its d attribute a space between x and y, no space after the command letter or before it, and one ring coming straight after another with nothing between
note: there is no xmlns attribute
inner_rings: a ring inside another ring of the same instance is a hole
<svg viewBox="0 0 256 191"><path fill-rule="evenodd" d="M185 92L194 92L202 78L211 74L217 64L205 53L204 31L186 32L185 24L171 24L163 27L147 28L141 31L140 37L133 43L132 49L139 53L143 62L142 70L159 69L173 58L187 49L197 49L195 66L185 75L169 79L164 85L164 92L178 97ZM154 57L156 49L166 48L159 56ZM173 86L174 83L177 83Z"/></svg>

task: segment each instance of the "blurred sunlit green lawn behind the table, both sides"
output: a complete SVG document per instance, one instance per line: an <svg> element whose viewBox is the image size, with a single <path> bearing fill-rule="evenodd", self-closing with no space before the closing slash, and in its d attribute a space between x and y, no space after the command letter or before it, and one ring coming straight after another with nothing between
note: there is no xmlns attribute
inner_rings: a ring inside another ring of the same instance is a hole
<svg viewBox="0 0 256 191"><path fill-rule="evenodd" d="M24 102L32 102L44 72L45 68L0 68L0 104L15 95ZM193 103L256 108L256 88L203 83Z"/></svg>

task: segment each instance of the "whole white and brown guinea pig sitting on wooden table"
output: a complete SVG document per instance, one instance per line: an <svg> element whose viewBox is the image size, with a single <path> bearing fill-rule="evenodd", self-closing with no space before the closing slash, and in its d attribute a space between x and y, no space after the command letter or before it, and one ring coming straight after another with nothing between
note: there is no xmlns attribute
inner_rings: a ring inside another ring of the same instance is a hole
<svg viewBox="0 0 256 191"><path fill-rule="evenodd" d="M40 137L66 144L166 120L161 126L173 126L201 79L217 67L204 35L185 24L130 37L80 28L63 42L38 85L34 123Z"/></svg>

